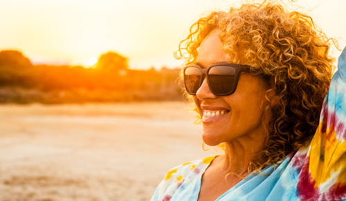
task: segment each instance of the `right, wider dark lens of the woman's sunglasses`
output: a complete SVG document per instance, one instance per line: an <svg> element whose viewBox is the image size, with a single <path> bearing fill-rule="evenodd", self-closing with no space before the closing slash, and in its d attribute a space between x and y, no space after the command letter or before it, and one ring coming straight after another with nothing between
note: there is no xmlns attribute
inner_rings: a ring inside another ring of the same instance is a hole
<svg viewBox="0 0 346 201"><path fill-rule="evenodd" d="M210 88L216 95L225 95L234 92L236 70L228 66L215 66L208 72Z"/></svg>

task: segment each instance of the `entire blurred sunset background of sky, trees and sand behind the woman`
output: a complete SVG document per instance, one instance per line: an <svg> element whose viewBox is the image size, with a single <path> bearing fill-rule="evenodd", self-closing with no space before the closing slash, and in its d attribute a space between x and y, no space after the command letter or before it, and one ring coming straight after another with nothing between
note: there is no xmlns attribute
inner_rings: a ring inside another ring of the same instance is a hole
<svg viewBox="0 0 346 201"><path fill-rule="evenodd" d="M0 0L0 200L149 200L169 168L221 154L173 52L243 2ZM283 3L346 45L346 1Z"/></svg>

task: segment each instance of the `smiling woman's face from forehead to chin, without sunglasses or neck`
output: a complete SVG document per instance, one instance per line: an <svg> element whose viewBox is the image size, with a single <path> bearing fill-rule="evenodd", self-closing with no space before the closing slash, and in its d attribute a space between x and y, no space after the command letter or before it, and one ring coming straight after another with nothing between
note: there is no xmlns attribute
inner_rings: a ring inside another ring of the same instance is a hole
<svg viewBox="0 0 346 201"><path fill-rule="evenodd" d="M224 56L219 30L212 30L202 41L197 62L203 68L219 62L235 62L228 61ZM210 146L235 140L264 141L266 135L262 108L266 90L262 78L251 73L240 75L237 89L229 96L212 94L207 80L203 80L194 96L194 102L201 111L203 141Z"/></svg>

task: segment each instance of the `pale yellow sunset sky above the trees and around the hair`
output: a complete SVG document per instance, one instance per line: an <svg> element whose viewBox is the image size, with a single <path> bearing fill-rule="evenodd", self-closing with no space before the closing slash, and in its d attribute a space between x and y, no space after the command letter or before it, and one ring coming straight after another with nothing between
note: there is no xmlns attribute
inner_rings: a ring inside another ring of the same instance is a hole
<svg viewBox="0 0 346 201"><path fill-rule="evenodd" d="M228 10L242 2L0 0L0 50L17 49L35 64L88 67L102 53L116 51L129 58L134 69L179 67L182 62L174 59L173 52L190 25L211 10ZM343 48L345 8L345 0L296 0L290 10L311 15Z"/></svg>

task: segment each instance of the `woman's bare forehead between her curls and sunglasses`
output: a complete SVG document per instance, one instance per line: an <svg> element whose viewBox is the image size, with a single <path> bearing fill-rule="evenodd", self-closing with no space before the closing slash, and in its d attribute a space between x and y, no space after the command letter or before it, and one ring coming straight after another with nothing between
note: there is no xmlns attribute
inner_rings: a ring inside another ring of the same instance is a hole
<svg viewBox="0 0 346 201"><path fill-rule="evenodd" d="M197 62L203 67L210 64L228 62L219 40L219 30L212 30L199 46Z"/></svg>

